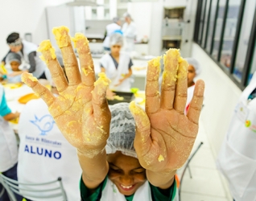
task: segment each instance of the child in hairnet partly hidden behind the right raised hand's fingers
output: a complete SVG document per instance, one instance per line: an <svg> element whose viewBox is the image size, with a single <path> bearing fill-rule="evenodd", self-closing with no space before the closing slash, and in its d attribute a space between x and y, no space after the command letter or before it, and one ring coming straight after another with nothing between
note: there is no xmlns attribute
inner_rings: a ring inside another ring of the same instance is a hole
<svg viewBox="0 0 256 201"><path fill-rule="evenodd" d="M188 113L189 105L195 89L195 78L201 72L199 62L194 58L184 58L188 61L188 96L184 113Z"/></svg>

